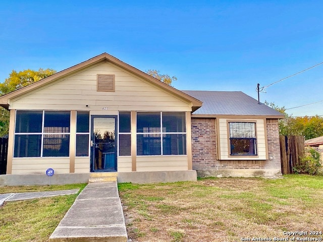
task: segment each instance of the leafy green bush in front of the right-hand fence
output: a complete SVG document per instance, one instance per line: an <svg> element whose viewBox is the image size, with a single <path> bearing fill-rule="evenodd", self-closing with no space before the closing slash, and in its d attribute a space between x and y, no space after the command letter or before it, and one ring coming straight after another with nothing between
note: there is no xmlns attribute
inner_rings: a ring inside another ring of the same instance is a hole
<svg viewBox="0 0 323 242"><path fill-rule="evenodd" d="M302 158L300 165L293 167L293 171L296 174L317 175L321 173L320 154L314 149L309 149L308 152L310 155Z"/></svg>

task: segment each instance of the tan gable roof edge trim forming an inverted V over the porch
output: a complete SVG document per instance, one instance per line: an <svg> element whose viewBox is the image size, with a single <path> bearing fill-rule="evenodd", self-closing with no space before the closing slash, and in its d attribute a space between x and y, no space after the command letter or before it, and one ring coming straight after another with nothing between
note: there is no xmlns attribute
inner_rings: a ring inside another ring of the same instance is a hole
<svg viewBox="0 0 323 242"><path fill-rule="evenodd" d="M49 82L58 80L59 78L63 78L65 76L67 76L67 75L76 73L76 72L78 72L78 71L80 71L80 70L82 70L82 69L84 69L86 67L89 67L91 65L94 65L94 64L97 64L97 63L103 62L103 61L111 62L111 63L113 63L113 64L115 64L115 65L117 65L119 67L122 67L125 70L127 70L127 71L129 71L129 72L131 72L131 73L133 73L133 74L135 74L135 75L137 75L137 76L139 76L139 77L141 77L141 78L143 78L145 80L148 80L151 83L153 83L153 84L155 84L155 85L169 91L170 93L175 94L176 96L179 96L179 97L183 98L184 100L192 102L192 105L193 105L192 106L192 111L195 111L196 109L198 109L199 107L202 106L202 102L200 100L198 100L198 99L196 99L196 98L194 98L194 97L192 97L192 96L190 96L190 95L188 95L188 94L186 94L184 92L181 92L180 90L177 90L176 88L171 87L171 86L169 86L169 85L167 85L167 84L165 84L163 82L160 82L158 79L153 78L153 77L149 76L148 74L138 70L137 68L134 68L133 66L130 66L129 64L120 61L120 59L118 59L118 58L116 58L116 57L114 57L114 56L112 56L112 55L110 55L108 53L99 54L99 55L97 55L97 56L95 56L93 58L88 59L85 62L82 62L82 63L77 64L75 66L72 66L72 67L70 67L68 69L60 71L60 72L58 72L56 74L53 74L53 75L51 75L51 76L49 76L47 78L44 78L44 79L40 80L38 82L32 83L32 84L30 84L28 86L25 86L23 88L20 88L18 90L15 90L13 92L5 94L5 95L0 97L0 106L3 106L3 107L8 109L9 108L9 103L8 103L9 99L15 98L17 96L20 96L20 95L22 95L24 93L27 93L27 92L29 92L29 91L31 91L33 89L41 87L41 86L43 86L43 85L45 85L45 84L47 84Z"/></svg>

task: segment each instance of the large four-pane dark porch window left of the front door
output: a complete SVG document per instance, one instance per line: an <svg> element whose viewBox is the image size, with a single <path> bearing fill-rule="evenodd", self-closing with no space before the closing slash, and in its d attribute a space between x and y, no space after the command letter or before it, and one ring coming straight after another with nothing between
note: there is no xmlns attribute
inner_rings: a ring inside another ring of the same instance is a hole
<svg viewBox="0 0 323 242"><path fill-rule="evenodd" d="M68 157L70 111L17 110L14 157Z"/></svg>

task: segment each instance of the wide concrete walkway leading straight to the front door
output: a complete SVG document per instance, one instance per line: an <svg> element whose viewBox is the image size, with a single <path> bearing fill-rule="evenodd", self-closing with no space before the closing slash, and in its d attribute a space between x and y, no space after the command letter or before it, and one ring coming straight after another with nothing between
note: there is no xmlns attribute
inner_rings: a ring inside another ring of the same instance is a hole
<svg viewBox="0 0 323 242"><path fill-rule="evenodd" d="M48 241L127 241L117 182L88 184Z"/></svg>

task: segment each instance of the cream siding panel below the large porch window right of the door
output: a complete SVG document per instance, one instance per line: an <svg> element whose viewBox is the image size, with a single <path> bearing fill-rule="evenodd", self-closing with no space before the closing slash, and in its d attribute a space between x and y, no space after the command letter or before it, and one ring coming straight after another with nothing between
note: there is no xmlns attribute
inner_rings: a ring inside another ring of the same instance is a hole
<svg viewBox="0 0 323 242"><path fill-rule="evenodd" d="M137 156L137 171L188 170L187 156Z"/></svg>

